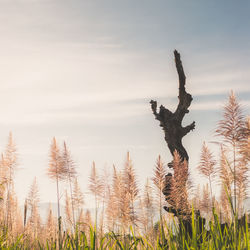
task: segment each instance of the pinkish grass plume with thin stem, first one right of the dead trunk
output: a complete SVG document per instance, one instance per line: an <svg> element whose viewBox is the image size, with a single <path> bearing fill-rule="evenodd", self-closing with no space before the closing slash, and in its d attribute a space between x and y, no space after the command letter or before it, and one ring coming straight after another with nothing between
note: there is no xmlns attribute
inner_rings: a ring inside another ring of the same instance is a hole
<svg viewBox="0 0 250 250"><path fill-rule="evenodd" d="M215 176L215 165L216 161L214 160L214 156L212 152L209 150L205 142L202 145L200 163L198 165L198 169L202 175L208 178L209 187L210 187L210 200L212 204L212 182ZM213 204L212 204L213 207Z"/></svg>

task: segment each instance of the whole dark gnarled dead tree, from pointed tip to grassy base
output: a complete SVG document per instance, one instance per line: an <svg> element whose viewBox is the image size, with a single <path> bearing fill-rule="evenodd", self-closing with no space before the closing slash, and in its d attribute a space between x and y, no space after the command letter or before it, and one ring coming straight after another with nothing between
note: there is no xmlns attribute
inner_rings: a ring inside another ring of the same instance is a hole
<svg viewBox="0 0 250 250"><path fill-rule="evenodd" d="M188 126L183 127L182 121L185 114L189 112L188 108L191 105L193 98L189 93L186 92L186 76L180 59L180 54L176 50L174 51L174 57L177 73L179 76L179 103L175 112L171 112L169 109L165 108L162 105L160 106L159 112L157 112L157 102L151 100L150 104L155 119L160 121L160 126L162 127L165 134L165 141L172 156L174 157L174 152L177 151L180 156L181 162L186 161L188 163L189 157L186 149L182 144L182 138L195 128L195 122L192 122ZM169 163L168 166L173 167L172 163L173 162ZM181 211L181 209L175 207L174 202L172 202L171 193L174 192L174 190L172 190L172 178L173 176L171 173L168 173L165 177L165 188L163 189L163 194L165 195L166 200L171 206L165 206L164 209L167 212L173 213L178 218L181 218L186 231L192 234L190 221L191 211L190 213ZM204 219L200 217L199 211L195 211L195 214L201 222L200 225L204 225Z"/></svg>

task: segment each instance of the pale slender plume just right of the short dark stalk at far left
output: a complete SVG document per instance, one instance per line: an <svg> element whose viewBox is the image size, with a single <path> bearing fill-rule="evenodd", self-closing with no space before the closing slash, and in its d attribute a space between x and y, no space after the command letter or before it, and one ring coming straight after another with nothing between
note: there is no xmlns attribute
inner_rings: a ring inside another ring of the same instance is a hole
<svg viewBox="0 0 250 250"><path fill-rule="evenodd" d="M33 180L33 183L30 187L30 191L27 198L28 209L30 210L30 217L27 224L31 227L31 239L37 238L41 230L41 218L38 209L39 199L39 190L36 181L36 177Z"/></svg>

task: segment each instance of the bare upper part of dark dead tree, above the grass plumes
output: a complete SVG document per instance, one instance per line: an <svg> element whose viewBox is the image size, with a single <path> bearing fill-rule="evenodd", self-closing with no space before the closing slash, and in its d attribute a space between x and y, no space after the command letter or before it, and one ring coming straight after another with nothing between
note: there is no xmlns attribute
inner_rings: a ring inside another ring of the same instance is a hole
<svg viewBox="0 0 250 250"><path fill-rule="evenodd" d="M186 92L186 76L182 67L180 54L175 50L175 64L179 75L179 104L175 112L171 112L164 106L160 106L159 112L157 112L157 102L151 100L151 108L156 120L160 121L160 126L165 133L165 141L167 142L168 148L172 155L176 150L181 159L189 160L186 149L182 145L182 138L195 128L195 122L190 125L182 127L182 120L189 112L188 108L193 100L192 96Z"/></svg>

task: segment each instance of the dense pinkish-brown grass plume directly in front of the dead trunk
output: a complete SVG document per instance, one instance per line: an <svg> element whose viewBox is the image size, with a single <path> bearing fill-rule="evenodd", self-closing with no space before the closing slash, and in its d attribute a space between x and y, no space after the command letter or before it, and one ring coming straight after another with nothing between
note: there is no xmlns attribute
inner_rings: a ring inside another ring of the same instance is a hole
<svg viewBox="0 0 250 250"><path fill-rule="evenodd" d="M173 207L182 211L184 214L190 214L191 208L188 202L188 163L182 161L180 155L175 150L173 159L174 176L172 178L171 201Z"/></svg>

